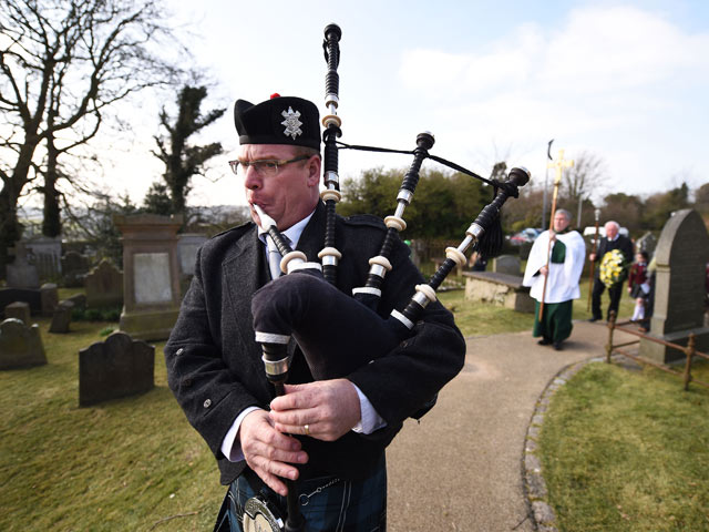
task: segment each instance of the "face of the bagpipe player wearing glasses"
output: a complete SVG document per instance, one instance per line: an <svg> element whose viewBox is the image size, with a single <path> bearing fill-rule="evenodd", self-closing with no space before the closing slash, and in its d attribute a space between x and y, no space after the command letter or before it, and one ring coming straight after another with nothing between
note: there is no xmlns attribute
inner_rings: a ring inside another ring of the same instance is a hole
<svg viewBox="0 0 709 532"><path fill-rule="evenodd" d="M297 149L282 144L244 144L239 152L239 161L288 161L296 156ZM319 192L320 157L311 156L306 161L284 164L273 176L260 175L253 166L244 173L239 167L246 201L249 205L259 205L273 217L281 231L305 218L315 208ZM260 225L254 207L251 218Z"/></svg>

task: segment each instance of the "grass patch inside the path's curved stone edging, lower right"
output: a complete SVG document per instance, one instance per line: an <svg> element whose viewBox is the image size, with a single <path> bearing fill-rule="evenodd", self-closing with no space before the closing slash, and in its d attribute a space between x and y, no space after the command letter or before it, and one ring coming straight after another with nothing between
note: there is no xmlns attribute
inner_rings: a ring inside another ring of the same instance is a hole
<svg viewBox="0 0 709 532"><path fill-rule="evenodd" d="M707 365L696 371L709 376ZM554 395L538 452L559 530L709 530L705 388L588 365Z"/></svg>

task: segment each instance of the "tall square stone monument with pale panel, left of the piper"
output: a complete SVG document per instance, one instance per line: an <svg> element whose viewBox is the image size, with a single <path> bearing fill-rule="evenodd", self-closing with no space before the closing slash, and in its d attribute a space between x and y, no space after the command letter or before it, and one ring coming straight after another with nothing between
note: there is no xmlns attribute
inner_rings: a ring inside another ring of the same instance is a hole
<svg viewBox="0 0 709 532"><path fill-rule="evenodd" d="M133 338L169 336L182 299L177 231L182 216L114 216L123 235L123 311L121 330Z"/></svg>

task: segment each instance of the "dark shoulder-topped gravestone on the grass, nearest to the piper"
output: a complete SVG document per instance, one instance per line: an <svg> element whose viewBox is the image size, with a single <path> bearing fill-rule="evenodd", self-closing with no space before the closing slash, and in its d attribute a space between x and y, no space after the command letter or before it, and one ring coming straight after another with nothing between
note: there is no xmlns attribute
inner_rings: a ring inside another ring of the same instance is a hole
<svg viewBox="0 0 709 532"><path fill-rule="evenodd" d="M79 351L79 405L88 407L154 387L155 347L113 332Z"/></svg>

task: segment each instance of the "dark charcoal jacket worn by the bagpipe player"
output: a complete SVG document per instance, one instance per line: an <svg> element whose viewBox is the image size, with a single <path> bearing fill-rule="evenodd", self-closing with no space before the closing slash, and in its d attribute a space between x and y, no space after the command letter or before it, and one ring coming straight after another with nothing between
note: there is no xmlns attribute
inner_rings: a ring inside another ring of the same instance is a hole
<svg viewBox="0 0 709 532"><path fill-rule="evenodd" d="M338 217L336 246L342 253L338 288L351 294L363 286L368 260L379 254L383 223L373 216ZM325 235L325 208L320 203L306 226L298 249L317 257ZM197 255L195 276L182 304L179 317L165 346L168 385L192 426L215 454L222 483L232 482L246 462L229 462L220 451L234 419L249 406L267 408L274 397L266 379L261 351L254 339L251 295L268 282L268 266L253 223L208 241ZM402 310L423 279L409 259L409 249L397 239L392 270L382 285L379 314ZM323 316L322 326L328 319ZM336 319L336 318L335 318ZM312 380L302 355L296 349L289 382ZM333 346L333 351L337 346ZM438 301L427 307L412 331L388 356L348 376L387 421L372 434L349 432L335 442L301 438L310 457L301 468L304 478L335 474L366 475L383 449L401 429L403 420L419 410L462 368L465 342L453 317Z"/></svg>

